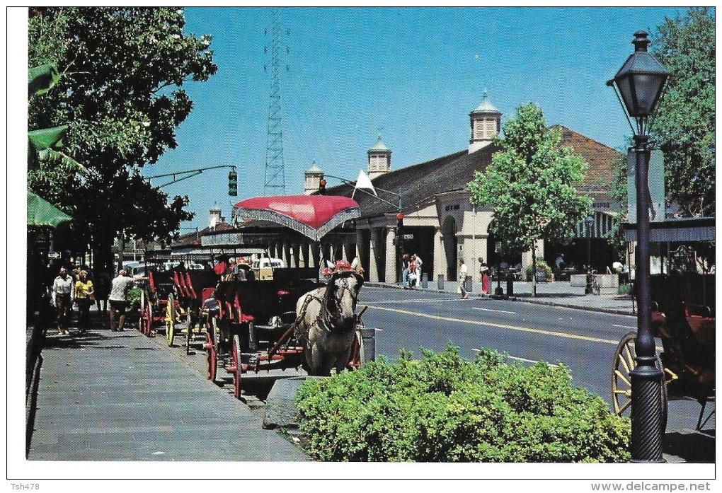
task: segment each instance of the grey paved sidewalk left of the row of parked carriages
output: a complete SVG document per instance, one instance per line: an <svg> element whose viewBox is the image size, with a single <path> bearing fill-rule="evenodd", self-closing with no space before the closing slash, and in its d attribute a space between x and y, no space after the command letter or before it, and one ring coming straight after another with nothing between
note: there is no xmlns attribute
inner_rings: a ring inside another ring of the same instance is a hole
<svg viewBox="0 0 722 493"><path fill-rule="evenodd" d="M42 355L29 461L310 460L139 331L50 329Z"/></svg>

